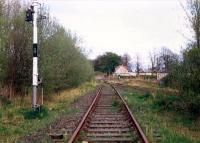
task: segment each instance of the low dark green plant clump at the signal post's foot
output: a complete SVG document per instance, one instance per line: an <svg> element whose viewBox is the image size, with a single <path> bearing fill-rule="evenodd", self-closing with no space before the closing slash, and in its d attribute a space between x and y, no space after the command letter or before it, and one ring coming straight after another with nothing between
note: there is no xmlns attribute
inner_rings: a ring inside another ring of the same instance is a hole
<svg viewBox="0 0 200 143"><path fill-rule="evenodd" d="M40 109L37 110L33 110L33 109L22 109L20 111L23 116L24 119L42 119L48 116L48 109L46 107L41 107Z"/></svg>

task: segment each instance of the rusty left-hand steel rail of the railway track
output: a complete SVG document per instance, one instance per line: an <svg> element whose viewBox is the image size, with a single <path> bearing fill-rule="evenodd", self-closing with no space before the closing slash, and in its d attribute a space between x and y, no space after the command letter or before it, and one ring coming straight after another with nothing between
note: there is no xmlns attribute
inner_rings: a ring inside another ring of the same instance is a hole
<svg viewBox="0 0 200 143"><path fill-rule="evenodd" d="M81 128L83 127L87 117L89 116L89 114L91 113L93 107L95 106L95 103L97 102L98 97L101 94L101 89L99 89L99 91L97 92L92 104L90 105L90 107L88 108L87 112L85 113L84 117L82 118L81 122L79 123L78 127L76 128L76 130L74 131L74 133L72 134L71 138L69 139L68 143L73 143L75 141L75 139L77 138Z"/></svg>

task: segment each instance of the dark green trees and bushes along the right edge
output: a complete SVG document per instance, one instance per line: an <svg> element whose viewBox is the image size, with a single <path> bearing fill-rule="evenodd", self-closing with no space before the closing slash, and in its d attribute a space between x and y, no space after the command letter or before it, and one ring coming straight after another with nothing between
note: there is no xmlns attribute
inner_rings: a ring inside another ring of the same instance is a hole
<svg viewBox="0 0 200 143"><path fill-rule="evenodd" d="M188 16L194 39L178 58L169 58L168 76L165 86L176 88L180 96L159 97L158 103L173 110L200 116L200 1L188 1L184 8ZM171 56L168 56L171 57Z"/></svg>

